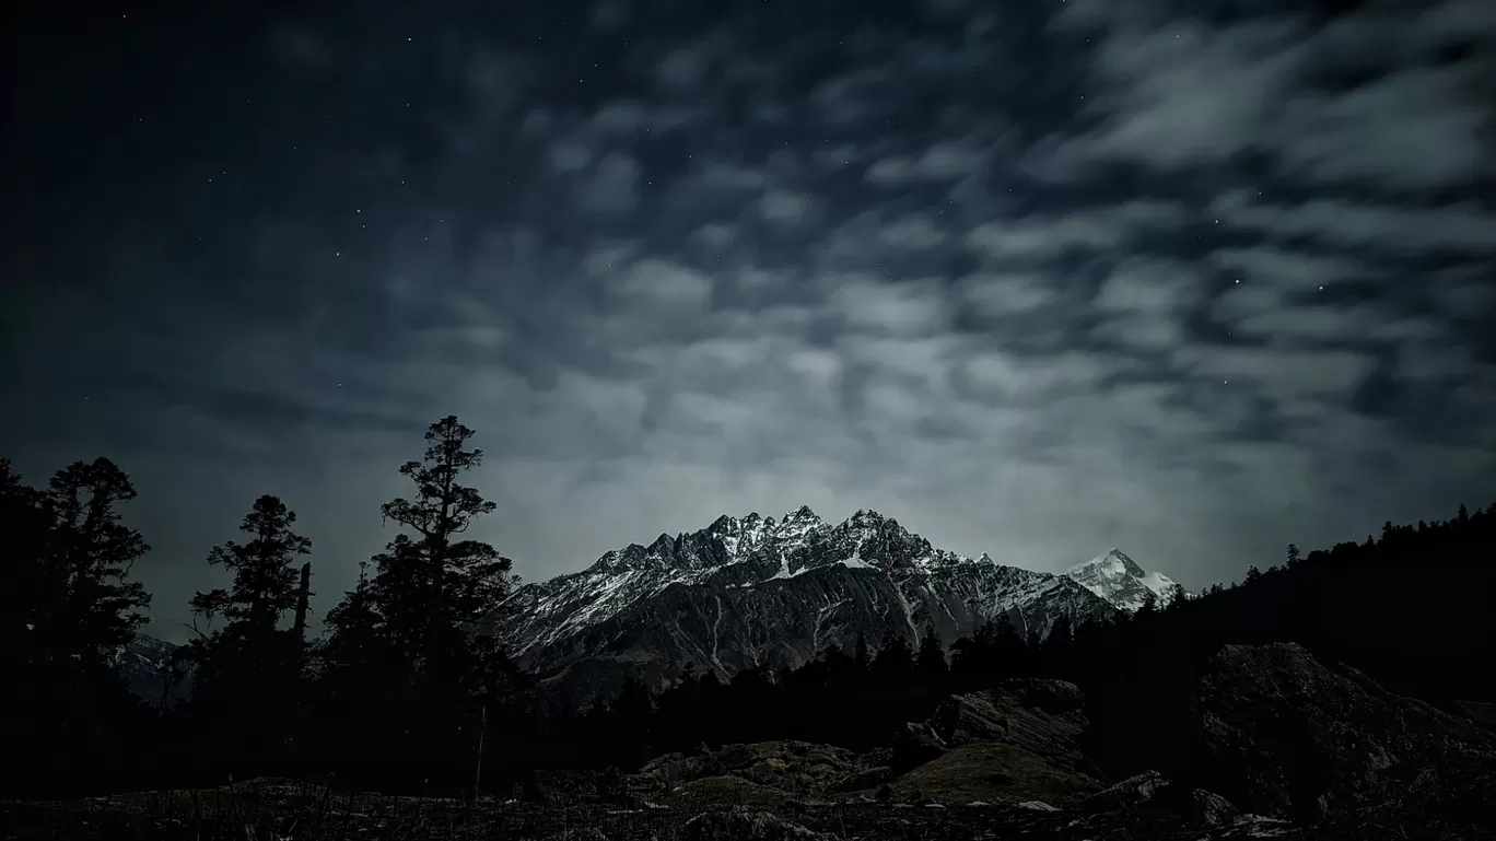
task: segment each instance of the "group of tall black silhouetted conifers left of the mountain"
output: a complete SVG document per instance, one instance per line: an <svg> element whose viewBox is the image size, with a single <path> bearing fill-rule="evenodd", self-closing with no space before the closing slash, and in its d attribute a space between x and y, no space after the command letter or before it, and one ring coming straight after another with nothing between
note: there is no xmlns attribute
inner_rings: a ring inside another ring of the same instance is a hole
<svg viewBox="0 0 1496 841"><path fill-rule="evenodd" d="M191 681L178 705L169 691L156 705L135 697L118 669L151 602L130 581L150 546L118 510L135 498L129 476L99 458L34 489L0 461L0 545L19 582L9 735L25 771L18 787L79 793L262 774L455 786L455 769L471 774L474 736L522 730L536 714L528 675L474 630L515 582L509 558L464 537L494 512L462 483L483 455L471 437L452 416L426 429L423 456L399 467L411 495L380 509L401 531L361 564L317 645L305 639L310 567L298 570L311 542L284 501L257 498L244 539L206 557L232 584L193 596L194 637L165 664L168 684Z"/></svg>

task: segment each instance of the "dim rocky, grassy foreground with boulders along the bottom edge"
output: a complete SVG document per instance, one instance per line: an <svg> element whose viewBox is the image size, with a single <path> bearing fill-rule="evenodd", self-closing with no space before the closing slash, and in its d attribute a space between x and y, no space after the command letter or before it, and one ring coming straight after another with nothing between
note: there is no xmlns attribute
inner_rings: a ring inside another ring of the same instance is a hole
<svg viewBox="0 0 1496 841"><path fill-rule="evenodd" d="M257 780L10 804L10 838L1225 840L1489 838L1496 739L1297 645L1227 646L1200 681L1200 768L1106 780L1080 691L1008 681L954 696L866 754L809 742L536 774L479 801ZM1212 789L1201 786L1209 781Z"/></svg>

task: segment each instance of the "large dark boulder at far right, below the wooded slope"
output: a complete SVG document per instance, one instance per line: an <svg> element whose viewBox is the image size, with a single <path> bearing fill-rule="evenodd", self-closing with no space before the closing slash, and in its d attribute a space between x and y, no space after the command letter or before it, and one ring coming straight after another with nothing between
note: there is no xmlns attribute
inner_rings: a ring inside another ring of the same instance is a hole
<svg viewBox="0 0 1496 841"><path fill-rule="evenodd" d="M1294 643L1227 645L1200 679L1201 781L1255 814L1315 822L1399 769L1496 759L1465 720L1331 670Z"/></svg>

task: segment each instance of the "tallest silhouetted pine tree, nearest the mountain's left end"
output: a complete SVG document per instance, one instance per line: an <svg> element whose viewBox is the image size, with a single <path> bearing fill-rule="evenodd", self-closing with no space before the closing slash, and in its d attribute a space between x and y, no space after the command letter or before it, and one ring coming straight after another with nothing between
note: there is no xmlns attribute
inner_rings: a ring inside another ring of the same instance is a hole
<svg viewBox="0 0 1496 841"><path fill-rule="evenodd" d="M422 780L429 778L423 772L455 777L458 768L476 760L471 751L480 721L489 733L524 730L516 721L539 712L528 676L491 636L476 633L485 612L507 594L512 563L494 546L461 537L495 507L461 483L483 458L482 450L467 447L471 437L473 429L453 416L426 429L423 458L399 468L416 494L380 509L410 533L395 536L374 557L373 579L361 582L328 617L325 703L361 685L377 690L381 697L365 705L365 715L405 724L395 744L381 747L389 762ZM497 754L501 744L485 739L485 750ZM519 754L513 742L504 747L510 759ZM485 762L485 769L500 772L492 762Z"/></svg>

